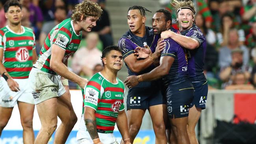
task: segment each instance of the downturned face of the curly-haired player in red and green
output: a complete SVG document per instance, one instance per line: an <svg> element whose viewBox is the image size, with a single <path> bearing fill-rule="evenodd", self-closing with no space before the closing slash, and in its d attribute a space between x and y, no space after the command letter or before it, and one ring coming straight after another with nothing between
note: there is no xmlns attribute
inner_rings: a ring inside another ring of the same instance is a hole
<svg viewBox="0 0 256 144"><path fill-rule="evenodd" d="M82 20L80 22L80 26L83 30L90 32L93 27L96 26L96 21L98 20L98 17L87 17L85 20Z"/></svg>

